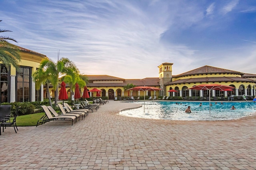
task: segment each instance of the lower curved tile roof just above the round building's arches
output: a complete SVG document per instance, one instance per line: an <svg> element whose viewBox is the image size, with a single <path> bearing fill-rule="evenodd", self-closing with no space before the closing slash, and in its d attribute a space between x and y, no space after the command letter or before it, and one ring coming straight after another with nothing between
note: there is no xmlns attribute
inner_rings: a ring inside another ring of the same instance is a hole
<svg viewBox="0 0 256 170"><path fill-rule="evenodd" d="M202 77L202 78L186 78L176 80L174 82L169 82L165 85L171 84L180 84L180 83L196 83L196 82L256 82L255 80L251 80L249 78L242 78L242 77Z"/></svg>

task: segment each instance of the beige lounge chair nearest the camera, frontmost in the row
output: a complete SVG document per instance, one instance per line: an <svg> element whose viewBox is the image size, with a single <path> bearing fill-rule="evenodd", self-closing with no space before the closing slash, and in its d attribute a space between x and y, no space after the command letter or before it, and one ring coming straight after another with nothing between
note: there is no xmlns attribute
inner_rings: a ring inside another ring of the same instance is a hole
<svg viewBox="0 0 256 170"><path fill-rule="evenodd" d="M73 121L75 121L76 123L76 116L71 116L71 115L62 115L62 116L52 116L52 113L50 112L50 110L48 109L47 106L41 106L44 109L44 113L45 113L45 117L44 119L42 119L42 124L44 124L46 121L51 121L51 120L68 120L68 121L72 121L72 125L73 125ZM40 121L41 119L39 119L38 121ZM38 124L38 123L37 123ZM37 125L36 125L37 126Z"/></svg>

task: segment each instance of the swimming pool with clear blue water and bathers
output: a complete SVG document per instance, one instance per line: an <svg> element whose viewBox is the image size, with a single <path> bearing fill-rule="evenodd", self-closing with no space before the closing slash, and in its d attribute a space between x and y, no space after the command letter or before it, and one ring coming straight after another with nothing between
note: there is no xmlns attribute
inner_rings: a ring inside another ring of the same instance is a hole
<svg viewBox="0 0 256 170"><path fill-rule="evenodd" d="M134 102L142 104L137 109L121 111L120 115L130 117L140 117L149 119L168 119L168 120L232 120L255 113L256 103L254 102L211 102L211 114L209 114L209 102L186 102L179 101L146 101L145 113L144 102ZM185 109L190 106L192 113L185 113ZM235 110L230 108L235 106Z"/></svg>

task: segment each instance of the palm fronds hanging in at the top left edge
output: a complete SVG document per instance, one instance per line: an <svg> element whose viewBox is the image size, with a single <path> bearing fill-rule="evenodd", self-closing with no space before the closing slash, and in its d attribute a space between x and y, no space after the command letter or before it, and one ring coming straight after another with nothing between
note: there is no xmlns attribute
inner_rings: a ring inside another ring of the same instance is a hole
<svg viewBox="0 0 256 170"><path fill-rule="evenodd" d="M0 29L0 33L2 32L12 32L12 31ZM8 41L14 41L18 43L15 39L11 37L0 36L0 62L5 64L8 70L10 70L11 65L17 69L18 63L21 60L21 57L18 53L19 48L16 45L9 43Z"/></svg>

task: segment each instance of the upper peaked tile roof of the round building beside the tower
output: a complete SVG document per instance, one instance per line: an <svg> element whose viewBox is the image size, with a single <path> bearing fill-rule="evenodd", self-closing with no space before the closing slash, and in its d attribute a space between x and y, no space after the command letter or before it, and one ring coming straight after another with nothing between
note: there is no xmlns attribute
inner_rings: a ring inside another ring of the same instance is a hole
<svg viewBox="0 0 256 170"><path fill-rule="evenodd" d="M218 67L213 67L213 66L202 66L199 68L196 68L194 70L190 70L188 72L184 72L182 74L178 74L175 77L181 77L181 76L188 76L188 75L194 75L194 74L217 74L217 73L232 73L232 74L240 74L243 75L244 73L238 72L238 71L233 71L233 70L227 70L224 68L218 68ZM173 76L174 77L174 76Z"/></svg>

